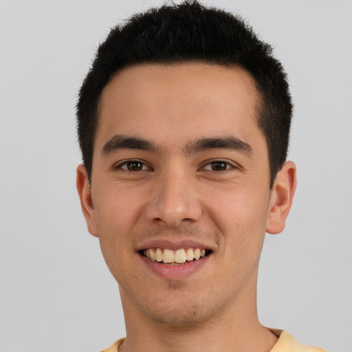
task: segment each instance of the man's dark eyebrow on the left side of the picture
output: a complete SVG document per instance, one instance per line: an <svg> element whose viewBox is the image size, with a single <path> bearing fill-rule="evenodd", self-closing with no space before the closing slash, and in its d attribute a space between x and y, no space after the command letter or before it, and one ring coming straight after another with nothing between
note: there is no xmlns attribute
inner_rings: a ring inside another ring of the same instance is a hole
<svg viewBox="0 0 352 352"><path fill-rule="evenodd" d="M130 137L126 135L114 135L109 142L102 147L102 155L109 155L121 149L139 149L142 151L157 152L159 148L155 142L144 140L140 137Z"/></svg>

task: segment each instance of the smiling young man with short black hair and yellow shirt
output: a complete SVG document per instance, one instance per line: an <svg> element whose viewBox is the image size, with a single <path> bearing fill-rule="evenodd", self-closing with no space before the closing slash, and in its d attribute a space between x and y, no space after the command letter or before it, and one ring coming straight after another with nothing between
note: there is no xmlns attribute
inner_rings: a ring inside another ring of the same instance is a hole
<svg viewBox="0 0 352 352"><path fill-rule="evenodd" d="M256 311L265 232L296 188L269 45L197 2L137 14L100 45L77 116L78 193L126 322L105 351L322 351Z"/></svg>

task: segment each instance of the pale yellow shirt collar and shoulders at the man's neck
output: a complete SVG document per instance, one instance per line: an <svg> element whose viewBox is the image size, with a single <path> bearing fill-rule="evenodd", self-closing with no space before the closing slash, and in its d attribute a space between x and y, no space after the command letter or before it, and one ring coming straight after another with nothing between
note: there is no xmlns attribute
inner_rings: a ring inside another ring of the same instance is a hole
<svg viewBox="0 0 352 352"><path fill-rule="evenodd" d="M307 346L300 344L293 336L286 331L270 329L276 336L278 336L278 342L271 349L270 352L326 352L323 349L313 346ZM118 352L118 347L124 342L124 338L116 341L108 349L104 349L101 352Z"/></svg>

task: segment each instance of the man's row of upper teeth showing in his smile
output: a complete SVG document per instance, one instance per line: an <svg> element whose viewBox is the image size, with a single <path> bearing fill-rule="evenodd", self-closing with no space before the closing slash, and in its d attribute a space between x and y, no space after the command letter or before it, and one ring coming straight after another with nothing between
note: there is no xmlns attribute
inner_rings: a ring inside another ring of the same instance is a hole
<svg viewBox="0 0 352 352"><path fill-rule="evenodd" d="M152 261L163 261L164 263L184 263L199 259L206 255L203 248L181 248L179 250L168 250L162 248L148 248L143 251L144 256Z"/></svg>

